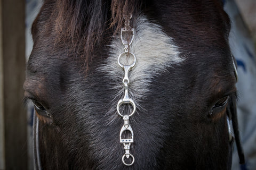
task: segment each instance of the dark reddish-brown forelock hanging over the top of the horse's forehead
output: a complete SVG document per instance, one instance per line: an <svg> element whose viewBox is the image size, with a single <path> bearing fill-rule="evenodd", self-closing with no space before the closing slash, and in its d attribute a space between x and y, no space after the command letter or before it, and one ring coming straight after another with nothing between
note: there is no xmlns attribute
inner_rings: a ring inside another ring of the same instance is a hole
<svg viewBox="0 0 256 170"><path fill-rule="evenodd" d="M137 0L57 0L54 12L58 42L71 42L71 49L85 59L86 69L95 46L102 48L122 27L123 16L140 8Z"/></svg>

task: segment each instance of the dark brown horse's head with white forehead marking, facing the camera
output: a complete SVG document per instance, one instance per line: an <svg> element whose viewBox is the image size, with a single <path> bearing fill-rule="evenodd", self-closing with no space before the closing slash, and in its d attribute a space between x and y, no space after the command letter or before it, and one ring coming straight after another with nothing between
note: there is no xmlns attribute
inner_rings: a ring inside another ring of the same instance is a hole
<svg viewBox="0 0 256 170"><path fill-rule="evenodd" d="M243 163L229 30L221 1L45 0L35 168L230 169L230 120Z"/></svg>

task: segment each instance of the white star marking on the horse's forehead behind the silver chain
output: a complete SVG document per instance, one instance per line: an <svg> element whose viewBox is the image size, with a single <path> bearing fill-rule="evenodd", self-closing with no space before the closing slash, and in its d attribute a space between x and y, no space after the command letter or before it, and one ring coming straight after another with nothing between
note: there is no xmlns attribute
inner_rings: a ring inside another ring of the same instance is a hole
<svg viewBox="0 0 256 170"><path fill-rule="evenodd" d="M179 64L185 59L180 57L178 47L174 45L173 39L167 36L159 25L150 23L145 16L141 16L136 24L130 52L137 57L137 64L130 71L129 95L140 107L139 100L147 96L151 80L167 71L172 64ZM111 79L116 79L119 82L113 87L117 90L117 94L113 94L116 96L117 103L124 91L122 83L124 71L117 63L118 55L124 52L124 45L120 37L114 38L110 48L110 56L99 70L106 72ZM132 57L130 59L133 60ZM122 61L122 64L127 63L132 63L132 61ZM143 108L140 107L140 109Z"/></svg>

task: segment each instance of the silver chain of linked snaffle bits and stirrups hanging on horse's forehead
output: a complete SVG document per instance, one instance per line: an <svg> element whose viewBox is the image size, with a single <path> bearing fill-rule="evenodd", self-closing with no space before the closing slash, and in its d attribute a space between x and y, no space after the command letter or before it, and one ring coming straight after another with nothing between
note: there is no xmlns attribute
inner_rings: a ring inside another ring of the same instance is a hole
<svg viewBox="0 0 256 170"><path fill-rule="evenodd" d="M124 45L124 52L121 53L119 56L118 56L118 64L119 66L122 67L122 69L124 70L125 72L125 75L124 75L124 79L123 79L123 84L124 84L124 97L123 99L120 99L117 103L117 113L123 117L123 120L124 120L124 124L122 126L122 129L120 131L120 143L123 143L124 145L124 149L125 149L125 154L123 155L122 157L122 162L124 163L124 165L126 166L130 166L134 163L134 157L133 155L130 153L130 146L131 146L131 143L133 143L133 131L132 131L132 127L131 125L129 124L129 117L131 117L135 111L136 111L136 106L135 106L135 103L134 101L132 100L132 98L130 98L129 96L129 84L130 84L130 80L129 80L129 72L133 69L133 67L135 66L136 64L136 56L130 52L130 46L132 44L132 41L134 39L134 29L131 28L131 25L130 25L130 19L132 18L132 15L129 14L129 15L126 15L124 16L124 28L121 29L121 40L122 40L122 43ZM129 37L131 35L131 38ZM133 63L132 64L127 64L127 65L124 65L121 63L121 57L130 57L132 56L133 57ZM121 105L123 104L130 104L132 105L133 107L133 110L130 114L121 114L120 111L119 111L119 108ZM130 131L132 137L131 138L127 138L127 139L122 139L122 134L125 132L125 131ZM132 158L132 162L130 164L127 164L125 163L125 158L126 159L129 159L129 158Z"/></svg>

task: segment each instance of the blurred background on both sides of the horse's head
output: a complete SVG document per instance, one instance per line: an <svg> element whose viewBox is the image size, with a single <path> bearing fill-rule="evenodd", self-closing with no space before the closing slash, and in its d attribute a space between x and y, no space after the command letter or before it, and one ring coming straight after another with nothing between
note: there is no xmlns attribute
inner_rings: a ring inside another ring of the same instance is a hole
<svg viewBox="0 0 256 170"><path fill-rule="evenodd" d="M230 47L238 64L238 122L246 164L234 147L232 169L256 169L256 1L226 0ZM22 105L30 27L42 0L0 0L0 169L33 169L33 107Z"/></svg>

